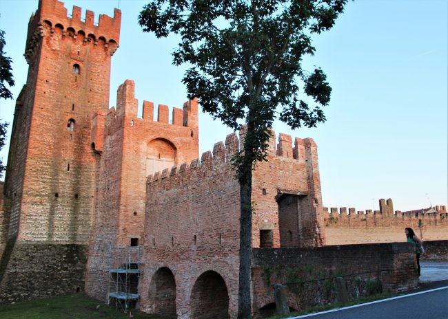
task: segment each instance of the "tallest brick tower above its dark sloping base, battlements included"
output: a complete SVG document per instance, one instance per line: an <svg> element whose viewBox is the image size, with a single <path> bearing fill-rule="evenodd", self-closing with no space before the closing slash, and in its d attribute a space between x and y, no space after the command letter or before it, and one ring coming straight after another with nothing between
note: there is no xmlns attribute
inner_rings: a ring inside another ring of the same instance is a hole
<svg viewBox="0 0 448 319"><path fill-rule="evenodd" d="M114 52L108 41L119 41L121 13L102 15L95 26L93 12L85 22L80 12L75 7L69 18L63 3L46 0L30 19L30 71L17 103L7 181L10 236L19 227L19 241L88 241L95 168L90 121L94 111L108 109Z"/></svg>

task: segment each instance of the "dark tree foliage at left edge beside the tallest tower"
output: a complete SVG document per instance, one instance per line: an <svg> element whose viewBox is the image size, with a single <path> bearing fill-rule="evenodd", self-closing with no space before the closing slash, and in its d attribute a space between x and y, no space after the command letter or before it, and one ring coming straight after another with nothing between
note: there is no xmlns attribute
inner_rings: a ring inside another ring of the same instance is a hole
<svg viewBox="0 0 448 319"><path fill-rule="evenodd" d="M14 85L14 80L12 79L12 67L11 67L11 58L5 55L3 52L3 47L5 47L5 32L0 30L0 98L12 98L12 93L5 86L5 82L8 83L10 87ZM0 151L3 146L5 146L5 138L6 138L6 128L8 127L8 122L0 122ZM3 174L3 170L5 170L5 166L3 166L2 159L0 158L0 177Z"/></svg>

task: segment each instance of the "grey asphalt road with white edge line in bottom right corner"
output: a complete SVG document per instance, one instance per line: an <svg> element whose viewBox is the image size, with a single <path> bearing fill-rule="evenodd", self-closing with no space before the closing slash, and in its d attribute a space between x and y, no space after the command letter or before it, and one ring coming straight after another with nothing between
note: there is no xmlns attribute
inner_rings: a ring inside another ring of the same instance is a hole
<svg viewBox="0 0 448 319"><path fill-rule="evenodd" d="M448 287L389 300L294 318L309 319L447 319Z"/></svg>

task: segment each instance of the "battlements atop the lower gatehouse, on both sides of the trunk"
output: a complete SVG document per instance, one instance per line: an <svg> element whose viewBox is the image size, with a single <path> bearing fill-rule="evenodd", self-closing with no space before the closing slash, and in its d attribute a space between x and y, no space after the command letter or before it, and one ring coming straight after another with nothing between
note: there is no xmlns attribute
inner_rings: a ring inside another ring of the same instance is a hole
<svg viewBox="0 0 448 319"><path fill-rule="evenodd" d="M213 151L202 153L201 159L193 159L190 164L182 163L179 166L165 168L160 172L147 177L146 183L157 183L165 179L180 180L181 183L189 183L189 177L203 178L208 175L214 175L216 168L228 165L232 169L230 162L232 155L242 150L242 141L247 132L246 126L243 126L239 134L232 133L225 137L225 142L217 142L213 146ZM272 131L272 137L269 140L268 153L283 160L292 160L294 162L305 163L305 152L316 148L316 143L312 138L295 138L294 148L292 147L292 137L280 133L276 147L276 134Z"/></svg>

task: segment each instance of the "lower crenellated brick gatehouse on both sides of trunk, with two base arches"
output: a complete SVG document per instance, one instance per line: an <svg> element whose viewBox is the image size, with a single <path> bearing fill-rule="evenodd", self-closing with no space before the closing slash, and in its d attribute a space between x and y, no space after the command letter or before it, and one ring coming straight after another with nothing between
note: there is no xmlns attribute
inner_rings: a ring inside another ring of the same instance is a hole
<svg viewBox="0 0 448 319"><path fill-rule="evenodd" d="M241 133L243 139L244 131ZM285 145L285 140L289 144ZM309 139L296 139L293 149L291 141L288 135L281 135L276 150L272 139L268 162L258 163L254 172L252 245L256 247L314 247L325 241L318 231L323 225L316 219L321 203L320 184L312 176L318 173L316 145ZM279 151L289 148L290 153ZM139 285L143 311L177 314L178 318L202 318L198 314L203 314L207 318L221 305L228 307L230 318L236 316L240 197L229 159L237 150L238 137L231 134L225 146L223 142L216 143L213 153L203 153L201 162L195 159L190 166L184 163L148 177L145 275ZM299 154L298 158L294 154ZM310 185L318 189L311 189ZM286 211L276 202L284 197L292 203ZM299 227L292 238L299 240L283 242L282 232L294 229L280 225L279 215L294 212ZM301 213L304 219L312 219L311 225L301 221ZM269 235L263 239L264 232ZM221 299L210 300L210 283L205 278L221 283L218 286L222 290L214 287ZM170 297L163 299L162 295Z"/></svg>

